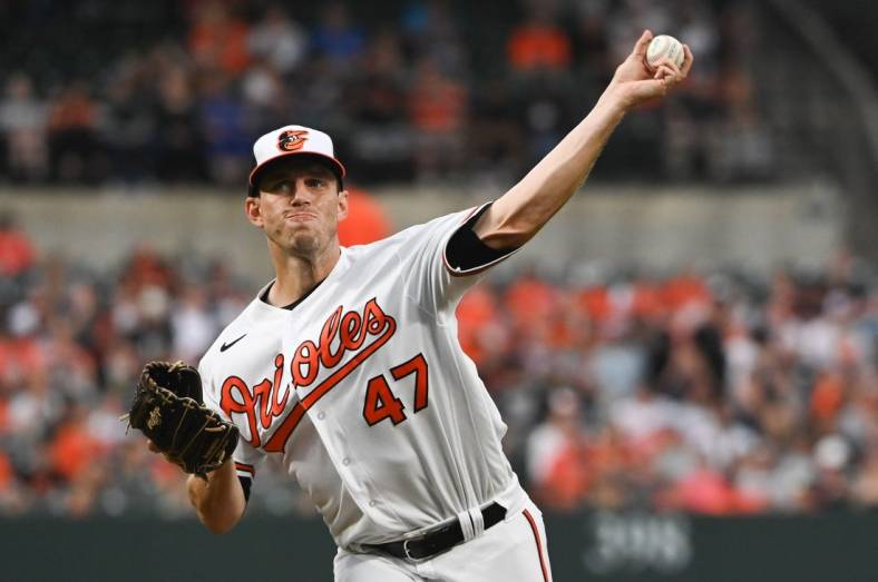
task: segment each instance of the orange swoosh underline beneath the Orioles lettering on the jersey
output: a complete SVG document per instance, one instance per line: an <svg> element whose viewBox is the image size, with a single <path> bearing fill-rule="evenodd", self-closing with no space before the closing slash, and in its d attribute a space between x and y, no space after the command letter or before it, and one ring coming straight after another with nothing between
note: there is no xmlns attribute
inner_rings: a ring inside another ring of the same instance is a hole
<svg viewBox="0 0 878 582"><path fill-rule="evenodd" d="M286 446L286 441L290 438L290 435L293 434L293 431L299 425L299 421L302 420L302 416L304 416L305 412L308 412L309 408L311 408L314 404L316 404L316 402L320 398L325 396L329 391L334 388L341 381L343 381L351 372L357 369L357 367L360 366L360 364L365 362L365 359L369 356L374 354L378 351L378 348L387 344L390 341L390 338L393 336L393 334L397 331L397 320L393 319L391 316L386 315L383 312L381 312L381 308L378 306L374 299L372 299L371 302L369 302L369 304L367 304L365 310L370 315L372 315L377 310L380 313L380 316L382 317L375 319L371 319L371 318L367 319L364 317L363 333L361 334L361 337L365 336L367 329L370 334L378 335L380 333L381 335L378 337L378 339L375 339L373 343L371 343L365 348L363 348L362 352L360 352L359 354L353 356L350 361L348 361L348 363L345 363L342 367L333 372L326 379L318 384L318 386L314 389L308 393L308 396L295 403L295 406L293 406L293 410L290 411L290 414L286 416L286 418L283 420L283 422L274 432L274 434L271 436L271 438L266 441L264 446L264 450L266 452L269 453L282 452L284 450L284 446ZM381 322L383 323L383 327L384 327L383 332L380 328L374 328L374 325L379 324L380 319L383 319L383 322ZM341 327L344 328L343 325ZM318 352L321 352L320 347L318 348ZM308 374L308 376L310 376L310 374Z"/></svg>

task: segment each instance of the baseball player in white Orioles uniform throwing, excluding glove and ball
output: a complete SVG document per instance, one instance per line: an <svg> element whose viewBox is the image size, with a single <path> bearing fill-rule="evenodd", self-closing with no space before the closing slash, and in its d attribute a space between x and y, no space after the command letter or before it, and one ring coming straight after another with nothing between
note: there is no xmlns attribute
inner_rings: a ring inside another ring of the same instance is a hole
<svg viewBox="0 0 878 582"><path fill-rule="evenodd" d="M552 579L542 514L504 455L455 307L573 196L627 111L686 77L689 47L682 67L646 67L651 38L504 196L370 245L339 245L345 170L326 134L286 126L255 142L245 211L276 277L199 365L205 404L241 432L232 461L187 484L211 531L242 517L274 455L339 546L336 581Z"/></svg>

